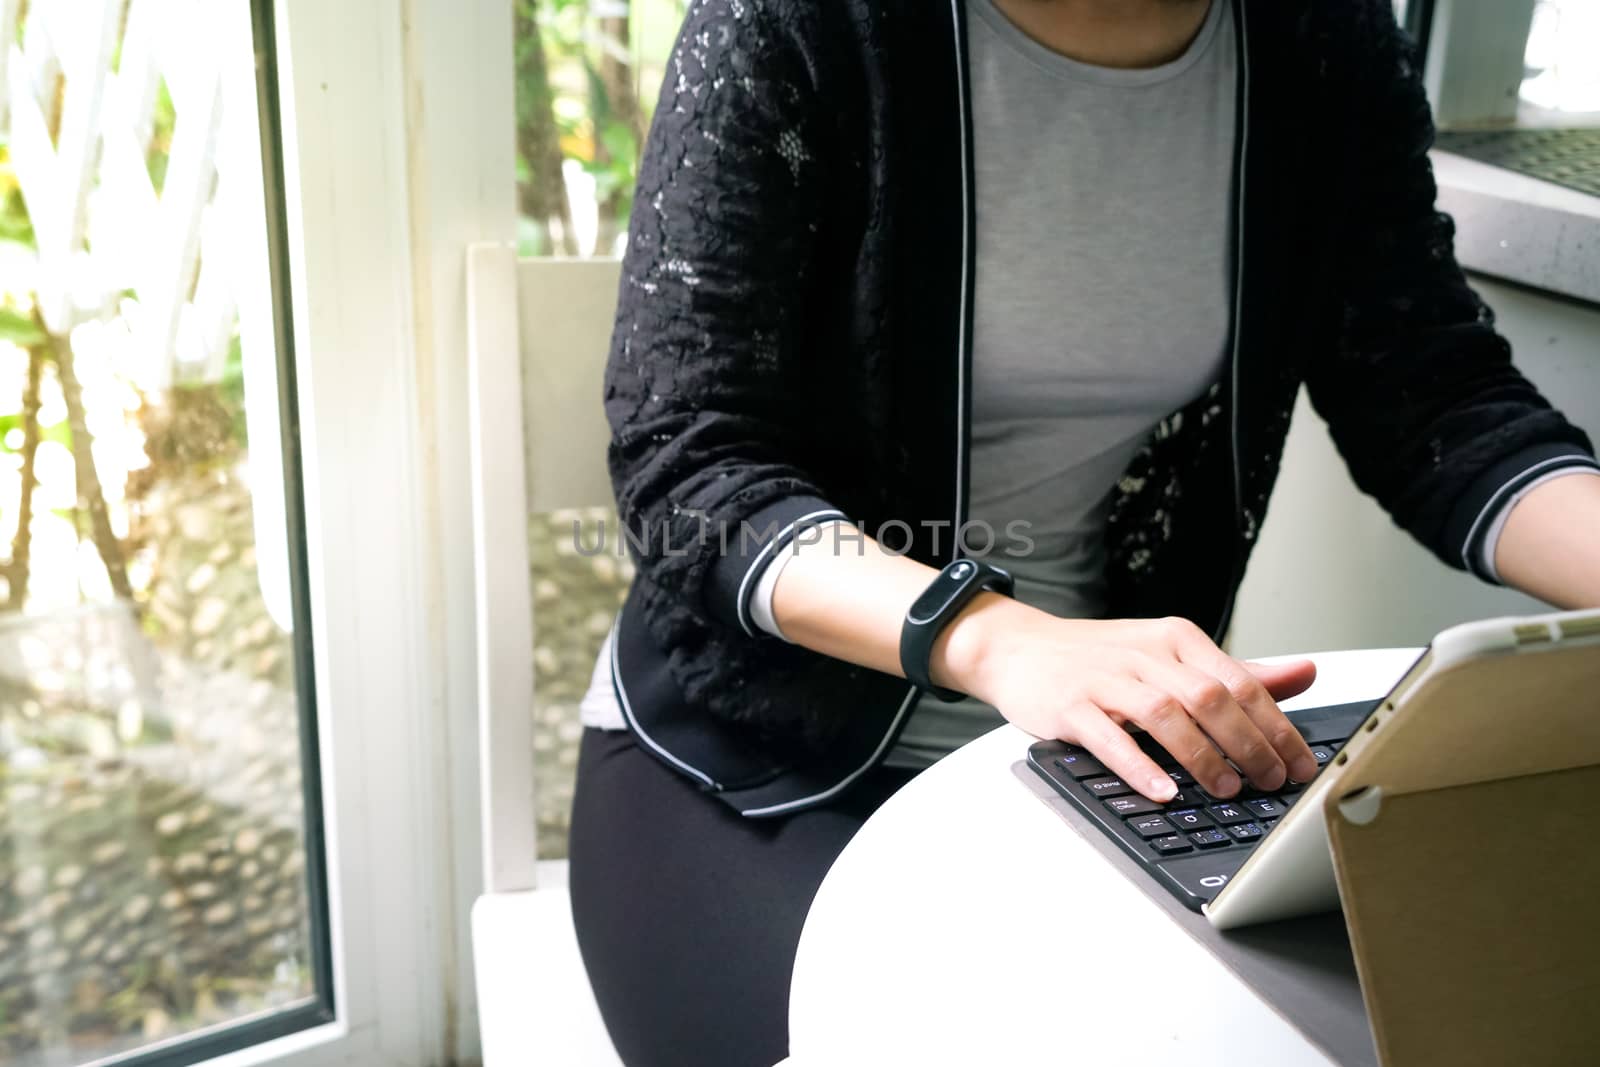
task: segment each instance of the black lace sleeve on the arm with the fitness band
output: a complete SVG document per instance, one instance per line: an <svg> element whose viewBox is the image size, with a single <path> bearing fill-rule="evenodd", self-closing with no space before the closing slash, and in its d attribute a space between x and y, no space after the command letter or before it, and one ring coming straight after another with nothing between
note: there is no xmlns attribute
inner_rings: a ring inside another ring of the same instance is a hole
<svg viewBox="0 0 1600 1067"><path fill-rule="evenodd" d="M709 659L781 643L749 613L760 565L843 518L806 470L818 416L792 402L814 363L829 158L814 18L816 5L786 0L691 5L622 262L605 376L611 480L646 624L706 705L738 699Z"/></svg>

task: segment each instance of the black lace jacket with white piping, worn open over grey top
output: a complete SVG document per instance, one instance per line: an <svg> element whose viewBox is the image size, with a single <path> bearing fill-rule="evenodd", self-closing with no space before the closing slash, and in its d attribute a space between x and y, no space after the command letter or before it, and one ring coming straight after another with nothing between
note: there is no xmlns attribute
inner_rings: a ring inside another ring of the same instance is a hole
<svg viewBox="0 0 1600 1067"><path fill-rule="evenodd" d="M1389 0L1218 2L1242 56L1232 358L1122 478L1107 581L1117 616L1221 635L1302 382L1357 485L1453 566L1523 472L1589 443L1456 266ZM949 560L966 102L960 0L694 0L667 66L606 366L638 561L613 673L642 741L746 814L848 787L914 702L762 633L747 605L758 565L830 515L898 520L915 557Z"/></svg>

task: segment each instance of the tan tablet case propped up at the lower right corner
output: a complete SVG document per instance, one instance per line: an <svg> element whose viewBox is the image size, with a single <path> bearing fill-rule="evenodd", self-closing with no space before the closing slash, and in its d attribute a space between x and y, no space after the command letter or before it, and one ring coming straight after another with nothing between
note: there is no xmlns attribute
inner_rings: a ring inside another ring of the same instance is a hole
<svg viewBox="0 0 1600 1067"><path fill-rule="evenodd" d="M1518 635L1336 757L1328 838L1389 1067L1600 1064L1600 646Z"/></svg>

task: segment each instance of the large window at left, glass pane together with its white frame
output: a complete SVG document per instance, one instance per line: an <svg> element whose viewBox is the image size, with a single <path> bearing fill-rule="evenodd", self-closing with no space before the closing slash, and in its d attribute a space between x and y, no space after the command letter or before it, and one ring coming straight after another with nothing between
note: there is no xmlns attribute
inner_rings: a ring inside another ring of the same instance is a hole
<svg viewBox="0 0 1600 1067"><path fill-rule="evenodd" d="M472 1062L506 8L0 11L0 1062Z"/></svg>

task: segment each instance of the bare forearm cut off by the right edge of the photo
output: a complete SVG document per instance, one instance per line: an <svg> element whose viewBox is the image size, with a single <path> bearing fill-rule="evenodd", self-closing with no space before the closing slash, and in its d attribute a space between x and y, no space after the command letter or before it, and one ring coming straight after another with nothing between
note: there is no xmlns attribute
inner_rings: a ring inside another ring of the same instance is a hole
<svg viewBox="0 0 1600 1067"><path fill-rule="evenodd" d="M1600 608L1600 475L1546 482L1506 517L1494 569L1558 608Z"/></svg>

